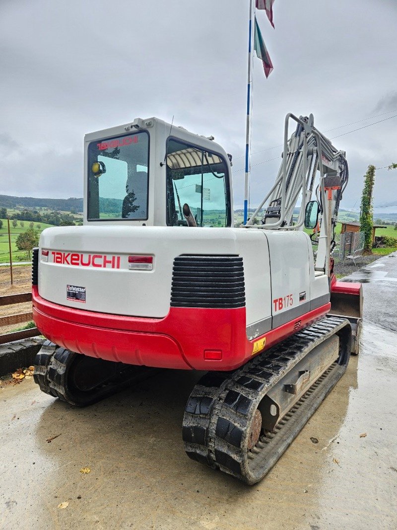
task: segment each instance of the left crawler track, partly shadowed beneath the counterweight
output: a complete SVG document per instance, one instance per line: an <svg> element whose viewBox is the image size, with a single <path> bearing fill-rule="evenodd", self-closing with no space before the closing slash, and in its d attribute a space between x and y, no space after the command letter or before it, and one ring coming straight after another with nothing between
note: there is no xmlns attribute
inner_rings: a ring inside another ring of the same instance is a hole
<svg viewBox="0 0 397 530"><path fill-rule="evenodd" d="M46 341L34 360L33 377L42 392L85 407L155 372L77 354Z"/></svg>

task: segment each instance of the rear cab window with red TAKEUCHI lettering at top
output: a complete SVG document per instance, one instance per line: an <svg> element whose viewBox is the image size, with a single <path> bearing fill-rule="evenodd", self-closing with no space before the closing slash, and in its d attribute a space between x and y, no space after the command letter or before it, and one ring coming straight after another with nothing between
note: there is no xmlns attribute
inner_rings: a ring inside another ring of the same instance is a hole
<svg viewBox="0 0 397 530"><path fill-rule="evenodd" d="M88 220L148 218L146 131L88 146Z"/></svg>

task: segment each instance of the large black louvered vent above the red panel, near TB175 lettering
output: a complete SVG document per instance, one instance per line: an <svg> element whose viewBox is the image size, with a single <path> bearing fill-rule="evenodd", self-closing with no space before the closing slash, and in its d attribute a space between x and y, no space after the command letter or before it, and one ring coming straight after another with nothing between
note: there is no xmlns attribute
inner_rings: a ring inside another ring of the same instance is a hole
<svg viewBox="0 0 397 530"><path fill-rule="evenodd" d="M242 258L182 255L174 259L173 307L244 307Z"/></svg>

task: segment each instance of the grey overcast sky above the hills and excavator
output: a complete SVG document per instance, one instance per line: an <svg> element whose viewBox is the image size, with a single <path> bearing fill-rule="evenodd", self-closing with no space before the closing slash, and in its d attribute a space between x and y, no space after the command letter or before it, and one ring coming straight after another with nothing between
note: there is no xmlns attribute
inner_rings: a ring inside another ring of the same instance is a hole
<svg viewBox="0 0 397 530"><path fill-rule="evenodd" d="M175 116L233 155L241 206L248 11L249 0L0 0L0 193L81 197L85 133ZM274 182L280 160L262 162L281 153L287 112L313 113L331 138L397 116L396 0L276 0L275 30L257 17L274 70L266 80L254 59L251 206ZM397 162L396 126L332 140L350 169L341 207L359 208L368 164ZM385 203L397 205L397 170L376 172Z"/></svg>

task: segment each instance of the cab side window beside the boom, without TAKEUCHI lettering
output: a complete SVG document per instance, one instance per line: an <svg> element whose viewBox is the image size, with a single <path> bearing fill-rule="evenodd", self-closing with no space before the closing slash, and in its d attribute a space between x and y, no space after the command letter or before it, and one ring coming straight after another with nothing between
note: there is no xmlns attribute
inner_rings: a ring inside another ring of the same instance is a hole
<svg viewBox="0 0 397 530"><path fill-rule="evenodd" d="M170 138L167 142L167 225L230 226L227 165L221 156Z"/></svg>

